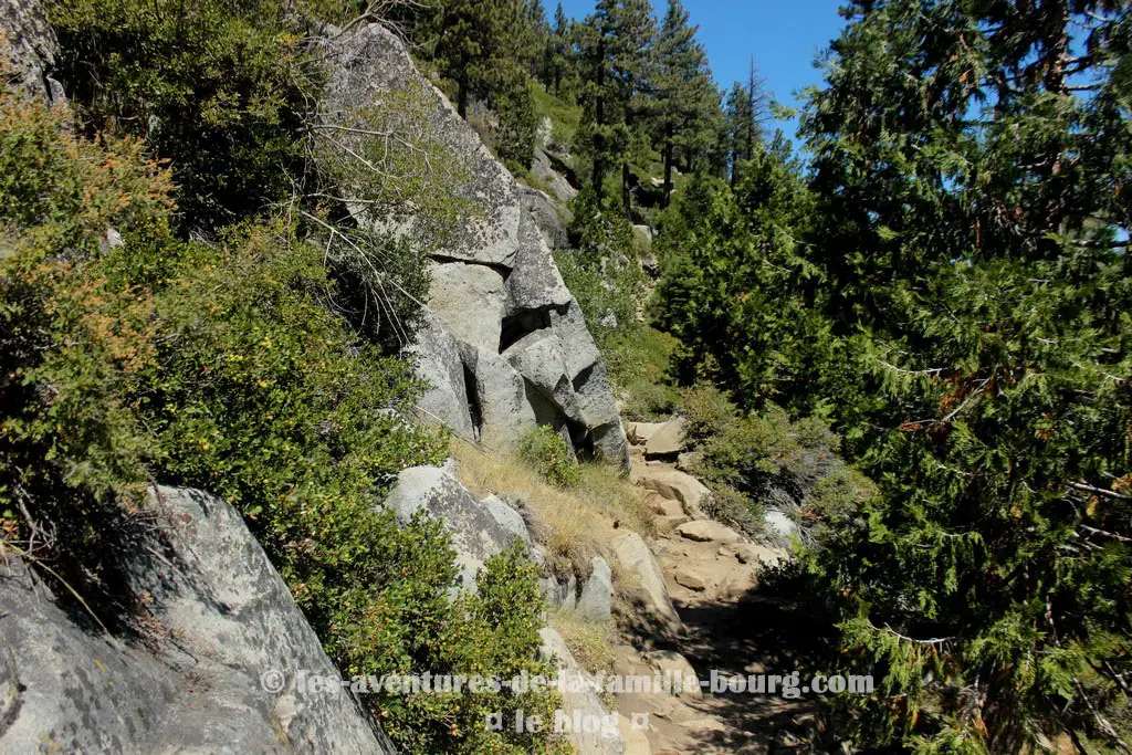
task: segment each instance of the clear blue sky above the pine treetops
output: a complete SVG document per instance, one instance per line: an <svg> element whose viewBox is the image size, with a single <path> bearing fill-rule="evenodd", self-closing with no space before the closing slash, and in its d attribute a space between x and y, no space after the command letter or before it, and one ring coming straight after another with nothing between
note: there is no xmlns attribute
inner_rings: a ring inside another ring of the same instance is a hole
<svg viewBox="0 0 1132 755"><path fill-rule="evenodd" d="M557 0L543 0L554 18ZM652 0L658 14L668 0ZM755 65L774 98L784 105L800 104L795 94L817 84L821 75L814 58L838 36L844 19L840 0L685 0L692 23L700 25L700 41L707 49L715 79L724 86L746 80L747 65ZM568 16L582 18L593 11L593 0L563 0ZM789 136L792 126L783 125Z"/></svg>

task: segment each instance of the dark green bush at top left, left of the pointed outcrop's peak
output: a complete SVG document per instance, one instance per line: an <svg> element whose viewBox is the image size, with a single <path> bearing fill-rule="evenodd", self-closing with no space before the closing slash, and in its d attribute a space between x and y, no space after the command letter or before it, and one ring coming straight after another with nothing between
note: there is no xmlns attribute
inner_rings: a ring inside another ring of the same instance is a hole
<svg viewBox="0 0 1132 755"><path fill-rule="evenodd" d="M172 162L190 229L290 196L310 80L302 29L271 0L55 0L58 70L88 134L145 137Z"/></svg>

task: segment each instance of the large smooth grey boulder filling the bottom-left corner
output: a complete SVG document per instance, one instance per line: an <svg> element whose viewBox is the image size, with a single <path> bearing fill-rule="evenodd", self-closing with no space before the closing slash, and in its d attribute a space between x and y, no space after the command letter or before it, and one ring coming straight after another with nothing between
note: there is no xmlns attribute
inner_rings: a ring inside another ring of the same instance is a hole
<svg viewBox="0 0 1132 755"><path fill-rule="evenodd" d="M105 635L18 559L0 569L0 752L396 752L338 684L298 686L340 677L240 515L154 497L160 529L121 543L147 642Z"/></svg>

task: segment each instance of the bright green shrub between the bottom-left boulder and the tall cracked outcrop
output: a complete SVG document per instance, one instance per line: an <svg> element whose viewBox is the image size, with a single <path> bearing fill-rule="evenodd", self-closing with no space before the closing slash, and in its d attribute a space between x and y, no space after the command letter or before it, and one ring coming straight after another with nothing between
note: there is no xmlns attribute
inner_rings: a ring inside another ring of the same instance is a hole
<svg viewBox="0 0 1132 755"><path fill-rule="evenodd" d="M140 393L160 397L146 422L168 453L163 479L222 494L252 518L344 672L541 668L531 567L497 559L478 595L452 603L456 570L439 527L401 529L375 509L395 472L445 455L444 438L389 411L412 404L408 364L358 342L315 298L328 285L321 249L277 226L226 241L228 252L194 248L158 299L179 337L158 350L162 369ZM535 706L522 696L366 702L414 752L537 744L483 731L486 712Z"/></svg>

